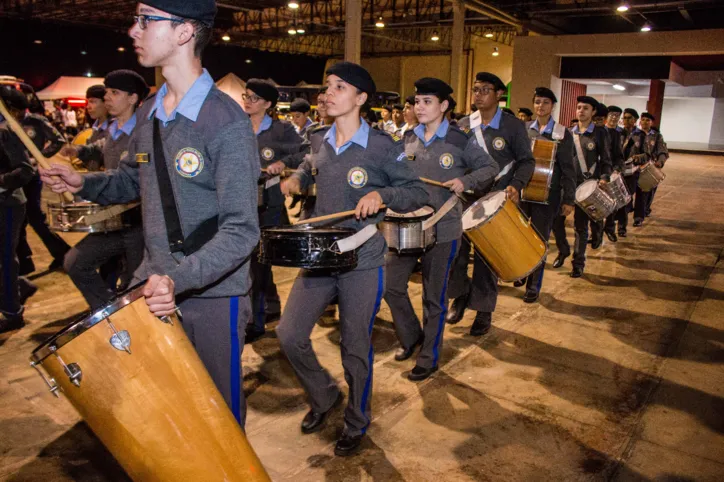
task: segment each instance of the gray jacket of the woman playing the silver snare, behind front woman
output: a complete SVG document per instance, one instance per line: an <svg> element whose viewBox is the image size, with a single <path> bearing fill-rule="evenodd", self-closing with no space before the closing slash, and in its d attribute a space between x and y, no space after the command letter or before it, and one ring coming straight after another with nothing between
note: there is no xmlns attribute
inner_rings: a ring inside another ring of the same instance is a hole
<svg viewBox="0 0 724 482"><path fill-rule="evenodd" d="M423 141L409 130L405 133L405 153L408 164L420 177L439 182L460 178L465 189L484 191L498 174L498 163L493 161L474 136L455 126L449 126L444 138L435 137L425 147ZM447 188L425 185L430 195L429 205L439 210L454 196ZM458 203L437 224L437 241L445 243L462 236L462 205Z"/></svg>

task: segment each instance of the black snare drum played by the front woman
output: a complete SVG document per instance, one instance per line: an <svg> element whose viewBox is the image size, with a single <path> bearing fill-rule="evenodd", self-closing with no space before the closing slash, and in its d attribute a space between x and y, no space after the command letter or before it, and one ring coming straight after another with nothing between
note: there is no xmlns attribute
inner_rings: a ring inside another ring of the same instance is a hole
<svg viewBox="0 0 724 482"><path fill-rule="evenodd" d="M354 229L349 228L263 228L259 262L303 269L353 269L357 252L340 253L336 246L337 241L353 234Z"/></svg>

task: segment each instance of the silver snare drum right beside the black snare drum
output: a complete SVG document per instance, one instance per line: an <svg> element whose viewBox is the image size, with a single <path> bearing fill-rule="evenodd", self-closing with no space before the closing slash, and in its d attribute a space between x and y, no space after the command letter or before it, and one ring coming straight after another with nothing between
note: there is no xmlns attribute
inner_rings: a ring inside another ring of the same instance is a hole
<svg viewBox="0 0 724 482"><path fill-rule="evenodd" d="M423 229L423 221L430 219L435 210L423 206L417 211L399 214L391 209L385 213L380 231L390 249L400 254L422 253L435 244L435 226Z"/></svg>

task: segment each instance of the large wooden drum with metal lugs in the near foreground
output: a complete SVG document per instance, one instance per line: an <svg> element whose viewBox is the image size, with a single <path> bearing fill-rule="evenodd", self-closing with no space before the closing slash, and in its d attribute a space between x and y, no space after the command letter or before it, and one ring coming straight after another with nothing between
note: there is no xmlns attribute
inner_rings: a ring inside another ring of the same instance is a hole
<svg viewBox="0 0 724 482"><path fill-rule="evenodd" d="M151 314L142 289L66 326L31 366L133 480L270 480L181 323Z"/></svg>

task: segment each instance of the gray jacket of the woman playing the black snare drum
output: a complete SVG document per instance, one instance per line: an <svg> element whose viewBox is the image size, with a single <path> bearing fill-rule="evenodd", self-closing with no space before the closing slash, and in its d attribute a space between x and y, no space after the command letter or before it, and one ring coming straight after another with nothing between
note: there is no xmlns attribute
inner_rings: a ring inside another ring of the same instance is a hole
<svg viewBox="0 0 724 482"><path fill-rule="evenodd" d="M399 213L414 211L429 201L425 185L408 165L402 142L395 142L384 132L370 128L367 147L351 145L337 154L324 139L328 129L311 136L311 155L293 177L302 189L317 184L317 203L312 216L323 216L355 209L366 194L377 191L388 208ZM316 175L312 175L312 169ZM314 179L312 180L312 177ZM359 231L384 218L384 209L359 221L354 217L334 223L337 227ZM376 233L357 249L358 270L383 266L387 243Z"/></svg>

